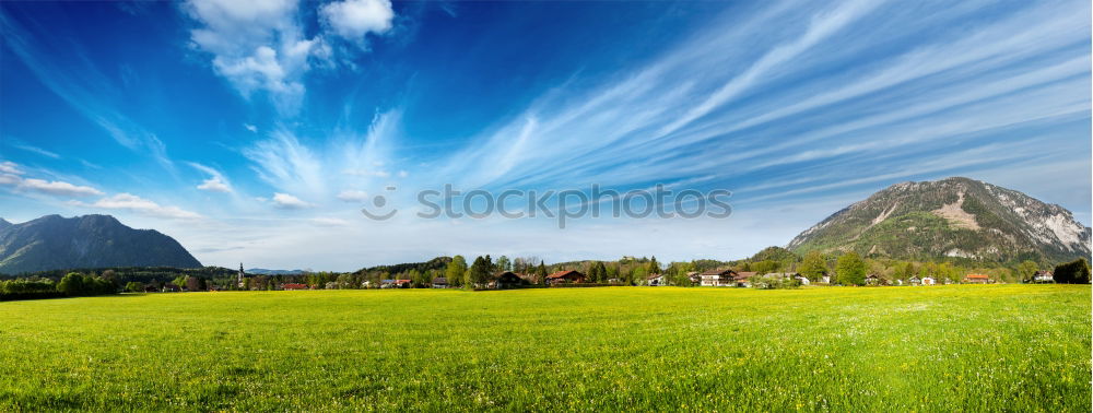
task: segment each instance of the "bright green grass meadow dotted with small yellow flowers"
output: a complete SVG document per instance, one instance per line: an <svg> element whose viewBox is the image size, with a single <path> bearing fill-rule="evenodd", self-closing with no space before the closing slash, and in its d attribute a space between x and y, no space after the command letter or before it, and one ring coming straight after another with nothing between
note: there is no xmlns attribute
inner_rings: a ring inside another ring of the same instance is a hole
<svg viewBox="0 0 1093 413"><path fill-rule="evenodd" d="M1089 286L0 303L0 411L1089 412Z"/></svg>

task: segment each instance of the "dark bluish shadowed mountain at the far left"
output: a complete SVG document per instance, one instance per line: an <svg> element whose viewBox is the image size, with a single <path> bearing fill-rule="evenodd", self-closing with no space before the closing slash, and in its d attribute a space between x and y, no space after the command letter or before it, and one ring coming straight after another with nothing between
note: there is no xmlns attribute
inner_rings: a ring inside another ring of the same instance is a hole
<svg viewBox="0 0 1093 413"><path fill-rule="evenodd" d="M200 268L201 263L174 238L130 228L109 215L46 215L0 224L0 273L154 266Z"/></svg>

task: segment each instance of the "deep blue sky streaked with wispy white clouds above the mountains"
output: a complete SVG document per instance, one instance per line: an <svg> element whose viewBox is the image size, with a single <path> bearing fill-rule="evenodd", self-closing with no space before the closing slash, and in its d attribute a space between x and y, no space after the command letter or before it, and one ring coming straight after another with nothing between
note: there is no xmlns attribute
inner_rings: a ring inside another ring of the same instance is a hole
<svg viewBox="0 0 1093 413"><path fill-rule="evenodd" d="M1091 214L1088 1L3 2L0 215L202 263L736 259L907 180ZM728 189L728 219L422 220L438 189ZM397 190L386 190L395 187ZM366 220L376 194L400 214Z"/></svg>

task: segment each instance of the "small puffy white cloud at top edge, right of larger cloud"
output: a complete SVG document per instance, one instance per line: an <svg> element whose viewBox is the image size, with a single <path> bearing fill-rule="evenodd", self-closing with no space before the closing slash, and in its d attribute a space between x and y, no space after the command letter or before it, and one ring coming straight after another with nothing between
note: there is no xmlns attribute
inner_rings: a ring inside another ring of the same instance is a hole
<svg viewBox="0 0 1093 413"><path fill-rule="evenodd" d="M391 30L395 10L389 0L345 0L327 3L319 14L329 27L351 40L368 33L383 34Z"/></svg>

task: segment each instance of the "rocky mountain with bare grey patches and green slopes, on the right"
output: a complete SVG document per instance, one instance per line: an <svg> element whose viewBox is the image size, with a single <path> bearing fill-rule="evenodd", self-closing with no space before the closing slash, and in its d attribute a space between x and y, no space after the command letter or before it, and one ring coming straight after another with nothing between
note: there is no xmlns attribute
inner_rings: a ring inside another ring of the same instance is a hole
<svg viewBox="0 0 1093 413"><path fill-rule="evenodd" d="M962 177L893 185L834 213L786 248L906 260L1062 261L1090 255L1090 228L1062 206Z"/></svg>

